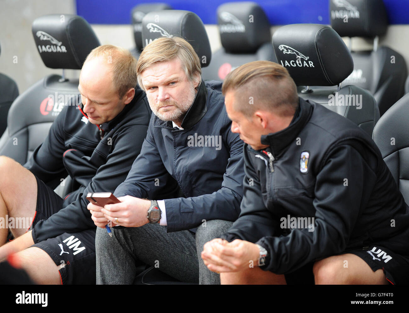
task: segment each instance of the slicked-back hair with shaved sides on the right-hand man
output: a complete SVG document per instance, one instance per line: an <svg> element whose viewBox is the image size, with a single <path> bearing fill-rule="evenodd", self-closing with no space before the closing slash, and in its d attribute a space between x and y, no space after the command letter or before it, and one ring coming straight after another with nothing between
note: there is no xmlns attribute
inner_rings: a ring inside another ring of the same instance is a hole
<svg viewBox="0 0 409 313"><path fill-rule="evenodd" d="M258 109L278 115L293 115L298 106L297 86L288 70L270 61L254 61L227 74L222 93L234 94L234 110L251 117Z"/></svg>

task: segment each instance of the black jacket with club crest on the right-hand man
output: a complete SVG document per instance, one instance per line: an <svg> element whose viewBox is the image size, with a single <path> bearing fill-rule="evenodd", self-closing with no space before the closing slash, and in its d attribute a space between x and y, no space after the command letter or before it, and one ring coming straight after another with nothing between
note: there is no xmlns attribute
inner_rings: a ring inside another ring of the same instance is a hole
<svg viewBox="0 0 409 313"><path fill-rule="evenodd" d="M353 122L300 98L290 126L261 142L274 160L245 145L241 214L222 238L265 247L262 268L277 274L370 244L409 255L409 208L378 147ZM303 228L288 227L292 217Z"/></svg>

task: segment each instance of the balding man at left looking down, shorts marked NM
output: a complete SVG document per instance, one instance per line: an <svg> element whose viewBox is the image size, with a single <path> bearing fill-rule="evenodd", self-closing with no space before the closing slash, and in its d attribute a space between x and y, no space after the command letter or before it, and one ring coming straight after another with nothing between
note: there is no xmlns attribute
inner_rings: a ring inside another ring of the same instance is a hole
<svg viewBox="0 0 409 313"><path fill-rule="evenodd" d="M92 50L79 77L81 104L66 104L24 167L0 157L0 216L32 221L28 232L12 228L16 239L7 244L8 229L0 229L0 260L16 253L38 284L95 284L95 225L86 196L113 192L146 137L151 110L137 87L136 63L121 47ZM67 173L72 190L61 198L52 188Z"/></svg>

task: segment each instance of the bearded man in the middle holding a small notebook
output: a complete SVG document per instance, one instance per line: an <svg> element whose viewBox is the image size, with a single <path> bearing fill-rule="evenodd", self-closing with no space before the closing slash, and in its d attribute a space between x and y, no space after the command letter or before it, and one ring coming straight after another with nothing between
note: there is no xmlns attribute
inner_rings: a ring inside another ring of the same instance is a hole
<svg viewBox="0 0 409 313"><path fill-rule="evenodd" d="M121 203L102 212L88 205L99 226L97 284L132 284L142 264L180 281L219 284L200 252L238 217L244 176L243 142L230 130L221 83L202 81L198 55L179 37L148 44L137 72L154 115L115 190ZM119 225L112 238L108 220Z"/></svg>

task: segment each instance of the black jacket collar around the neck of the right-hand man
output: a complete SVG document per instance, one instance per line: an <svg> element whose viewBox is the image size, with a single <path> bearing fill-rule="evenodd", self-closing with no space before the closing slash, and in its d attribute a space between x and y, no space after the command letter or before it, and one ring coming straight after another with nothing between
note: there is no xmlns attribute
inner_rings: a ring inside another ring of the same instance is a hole
<svg viewBox="0 0 409 313"><path fill-rule="evenodd" d="M271 153L275 158L281 155L291 142L294 142L301 129L310 120L312 105L300 97L298 99L298 108L290 125L282 131L261 136L261 143L270 146Z"/></svg>

